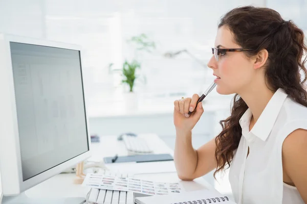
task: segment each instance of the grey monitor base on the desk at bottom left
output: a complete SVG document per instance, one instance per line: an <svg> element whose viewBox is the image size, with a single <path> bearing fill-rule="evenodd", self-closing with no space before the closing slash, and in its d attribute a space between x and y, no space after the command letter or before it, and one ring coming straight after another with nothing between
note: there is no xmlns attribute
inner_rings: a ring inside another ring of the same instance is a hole
<svg viewBox="0 0 307 204"><path fill-rule="evenodd" d="M2 200L0 200L0 203L2 204L83 204L84 202L85 198L82 197L32 198L28 197L25 192L16 196L3 196Z"/></svg>

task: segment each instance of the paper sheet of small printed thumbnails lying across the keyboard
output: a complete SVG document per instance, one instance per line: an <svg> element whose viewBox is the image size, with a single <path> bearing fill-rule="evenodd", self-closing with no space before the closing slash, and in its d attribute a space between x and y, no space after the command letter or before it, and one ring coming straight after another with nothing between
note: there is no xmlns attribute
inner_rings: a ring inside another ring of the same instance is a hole
<svg viewBox="0 0 307 204"><path fill-rule="evenodd" d="M131 177L117 177L99 173L88 173L82 186L128 191L145 195L166 195L183 192L183 188L179 183L152 182Z"/></svg>

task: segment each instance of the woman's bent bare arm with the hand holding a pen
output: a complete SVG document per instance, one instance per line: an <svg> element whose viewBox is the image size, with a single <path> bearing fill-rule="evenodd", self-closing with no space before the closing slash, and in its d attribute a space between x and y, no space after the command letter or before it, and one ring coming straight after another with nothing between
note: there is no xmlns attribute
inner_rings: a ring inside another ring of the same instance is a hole
<svg viewBox="0 0 307 204"><path fill-rule="evenodd" d="M176 127L176 143L174 163L182 180L193 180L217 166L215 161L215 138L195 150L192 146L192 129L201 118L204 109L202 103L196 106L198 94L192 98L174 101L174 125ZM188 115L189 111L194 111Z"/></svg>

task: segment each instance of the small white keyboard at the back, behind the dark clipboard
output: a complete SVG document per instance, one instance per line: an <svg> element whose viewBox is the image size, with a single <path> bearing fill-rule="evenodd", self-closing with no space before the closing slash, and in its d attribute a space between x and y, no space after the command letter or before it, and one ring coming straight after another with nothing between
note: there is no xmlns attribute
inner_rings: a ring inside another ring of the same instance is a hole
<svg viewBox="0 0 307 204"><path fill-rule="evenodd" d="M153 152L143 138L123 135L122 139L130 154L141 155Z"/></svg>

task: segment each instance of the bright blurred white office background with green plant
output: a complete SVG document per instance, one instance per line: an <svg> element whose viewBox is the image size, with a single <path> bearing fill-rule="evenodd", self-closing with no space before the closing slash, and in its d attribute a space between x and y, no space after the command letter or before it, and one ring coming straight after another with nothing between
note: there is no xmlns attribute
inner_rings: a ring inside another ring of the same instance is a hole
<svg viewBox="0 0 307 204"><path fill-rule="evenodd" d="M0 32L82 45L91 134L155 133L173 148L173 101L212 83L218 21L242 5L273 8L307 28L303 0L1 0ZM221 131L232 97L213 90L204 100L194 148ZM204 177L231 194L227 171Z"/></svg>

